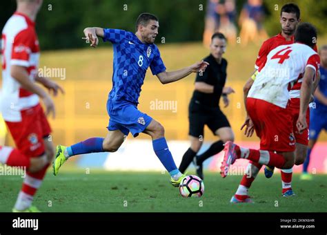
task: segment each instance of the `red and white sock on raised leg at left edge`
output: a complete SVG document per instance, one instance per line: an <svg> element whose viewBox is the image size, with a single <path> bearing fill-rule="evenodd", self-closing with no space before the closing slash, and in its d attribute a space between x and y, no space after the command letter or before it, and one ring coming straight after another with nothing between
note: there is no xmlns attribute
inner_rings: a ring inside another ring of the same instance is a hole
<svg viewBox="0 0 327 235"><path fill-rule="evenodd" d="M30 158L12 147L0 146L0 162L10 167L30 167Z"/></svg>

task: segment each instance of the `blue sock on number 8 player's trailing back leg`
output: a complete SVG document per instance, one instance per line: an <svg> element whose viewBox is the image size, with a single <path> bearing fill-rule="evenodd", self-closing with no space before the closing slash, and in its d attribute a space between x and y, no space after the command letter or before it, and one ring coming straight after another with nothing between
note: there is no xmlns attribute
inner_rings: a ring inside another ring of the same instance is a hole
<svg viewBox="0 0 327 235"><path fill-rule="evenodd" d="M103 138L90 138L88 140L84 140L70 147L67 147L66 150L68 156L66 157L69 158L71 156L83 154L83 153L103 152L103 148L102 148L103 140L104 140Z"/></svg>

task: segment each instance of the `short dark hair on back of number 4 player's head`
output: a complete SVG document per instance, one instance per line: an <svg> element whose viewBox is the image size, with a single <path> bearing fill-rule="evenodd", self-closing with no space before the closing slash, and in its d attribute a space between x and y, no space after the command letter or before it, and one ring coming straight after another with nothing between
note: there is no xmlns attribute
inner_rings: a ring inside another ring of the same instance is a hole
<svg viewBox="0 0 327 235"><path fill-rule="evenodd" d="M310 47L317 44L317 30L311 23L301 23L295 31L295 42L301 42Z"/></svg>

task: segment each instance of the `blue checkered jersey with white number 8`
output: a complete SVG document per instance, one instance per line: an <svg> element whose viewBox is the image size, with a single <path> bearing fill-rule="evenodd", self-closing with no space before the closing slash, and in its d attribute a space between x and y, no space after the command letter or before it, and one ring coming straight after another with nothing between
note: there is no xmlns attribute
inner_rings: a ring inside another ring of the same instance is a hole
<svg viewBox="0 0 327 235"><path fill-rule="evenodd" d="M138 104L148 67L153 75L166 71L159 49L155 44L142 43L132 32L112 28L103 32L103 41L111 41L114 49L112 90L108 98Z"/></svg>

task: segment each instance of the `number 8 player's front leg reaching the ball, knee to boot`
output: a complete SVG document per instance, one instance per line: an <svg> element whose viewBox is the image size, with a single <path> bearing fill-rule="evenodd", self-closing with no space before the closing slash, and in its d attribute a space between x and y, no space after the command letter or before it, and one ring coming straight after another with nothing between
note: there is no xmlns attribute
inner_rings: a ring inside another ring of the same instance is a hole
<svg viewBox="0 0 327 235"><path fill-rule="evenodd" d="M164 165L170 174L170 183L174 187L178 187L181 180L185 177L174 162L172 154L170 153L167 145L166 138L164 137L164 126L155 120L151 120L150 124L143 131L152 137L152 146L155 154L160 162Z"/></svg>

